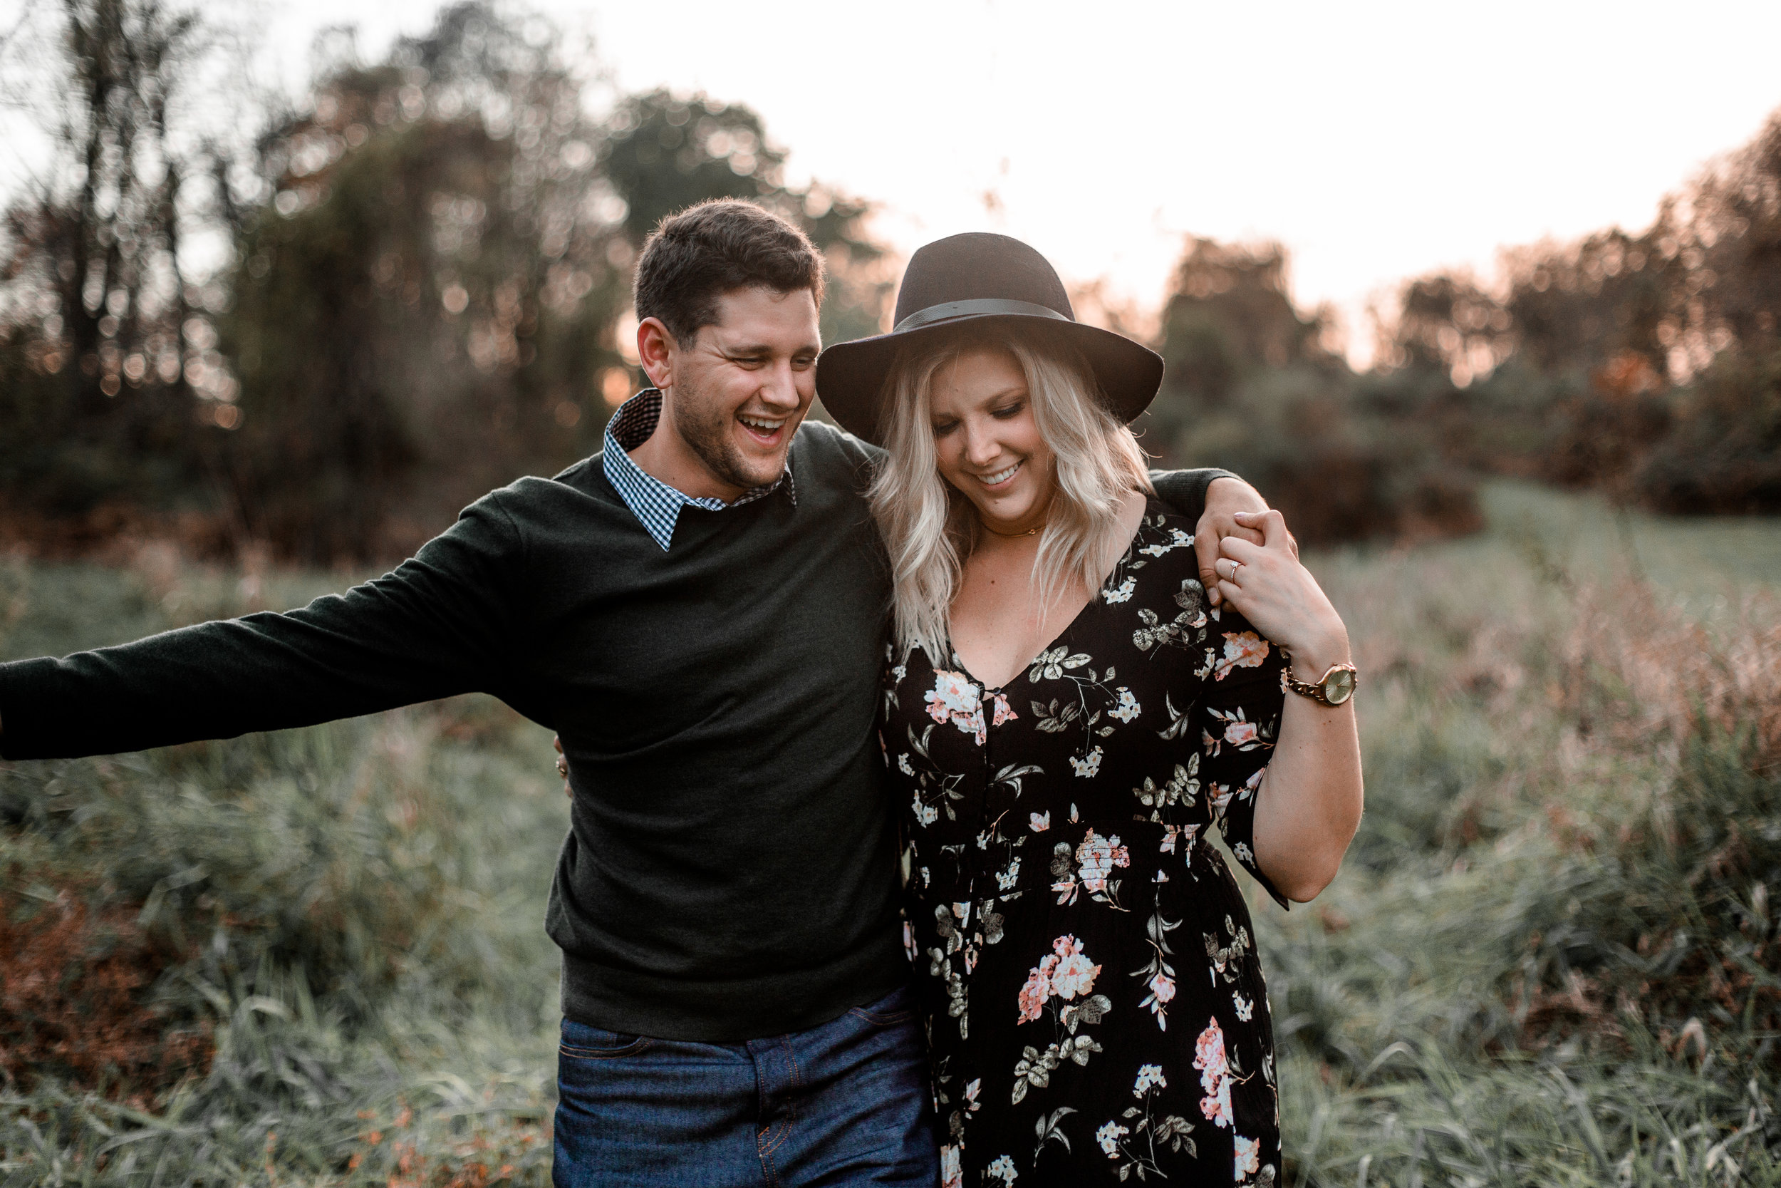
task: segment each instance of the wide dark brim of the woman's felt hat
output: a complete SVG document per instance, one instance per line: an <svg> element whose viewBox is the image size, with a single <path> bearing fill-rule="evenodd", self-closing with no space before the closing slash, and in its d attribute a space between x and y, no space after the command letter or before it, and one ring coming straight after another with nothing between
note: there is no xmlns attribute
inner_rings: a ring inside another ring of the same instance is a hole
<svg viewBox="0 0 1781 1188"><path fill-rule="evenodd" d="M1163 356L1111 330L1031 313L978 313L901 333L837 342L816 360L816 394L842 429L883 445L885 378L896 358L942 333L958 333L960 326L981 324L988 330L992 322L1038 328L1040 333L1070 344L1094 372L1101 388L1095 395L1122 424L1136 420L1163 383Z"/></svg>

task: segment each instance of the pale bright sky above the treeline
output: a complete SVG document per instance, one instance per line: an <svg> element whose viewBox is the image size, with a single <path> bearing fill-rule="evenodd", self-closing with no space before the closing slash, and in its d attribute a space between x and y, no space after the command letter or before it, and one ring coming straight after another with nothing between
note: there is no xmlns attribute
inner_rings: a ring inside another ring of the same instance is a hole
<svg viewBox="0 0 1781 1188"><path fill-rule="evenodd" d="M378 57L435 9L269 0L267 45L297 82L317 28L356 23ZM1501 244L1640 228L1781 107L1776 0L536 9L591 34L627 89L752 105L793 178L882 203L903 253L999 230L1156 306L1186 233L1279 239L1295 297L1341 310L1357 362L1370 296L1489 276Z"/></svg>

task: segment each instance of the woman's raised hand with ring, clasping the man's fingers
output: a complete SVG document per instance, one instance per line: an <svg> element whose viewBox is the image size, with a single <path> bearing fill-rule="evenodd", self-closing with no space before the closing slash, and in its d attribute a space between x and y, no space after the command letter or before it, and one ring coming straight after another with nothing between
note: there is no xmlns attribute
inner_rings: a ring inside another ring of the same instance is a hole
<svg viewBox="0 0 1781 1188"><path fill-rule="evenodd" d="M1263 543L1241 536L1218 541L1218 593L1225 606L1293 655L1302 680L1316 680L1330 664L1348 663L1348 629L1318 581L1298 561L1298 549L1279 511L1240 511L1241 527L1259 529Z"/></svg>

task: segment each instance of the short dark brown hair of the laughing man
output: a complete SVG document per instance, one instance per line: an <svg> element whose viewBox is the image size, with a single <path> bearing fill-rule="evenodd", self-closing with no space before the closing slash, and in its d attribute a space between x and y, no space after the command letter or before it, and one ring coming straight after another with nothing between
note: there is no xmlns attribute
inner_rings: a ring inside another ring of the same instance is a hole
<svg viewBox="0 0 1781 1188"><path fill-rule="evenodd" d="M739 198L712 198L663 219L643 244L632 303L689 344L718 322L718 297L737 289L796 292L823 305L823 253L794 223Z"/></svg>

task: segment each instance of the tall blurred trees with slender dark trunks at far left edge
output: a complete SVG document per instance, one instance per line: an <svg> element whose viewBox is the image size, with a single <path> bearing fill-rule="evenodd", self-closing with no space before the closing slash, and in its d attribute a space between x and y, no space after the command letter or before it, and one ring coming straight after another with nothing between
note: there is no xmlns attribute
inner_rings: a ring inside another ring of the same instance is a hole
<svg viewBox="0 0 1781 1188"><path fill-rule="evenodd" d="M214 34L155 0L62 0L27 11L4 50L9 102L50 159L4 214L0 493L80 513L187 492L194 387L232 394L226 374L205 383L180 258L207 169L180 100Z"/></svg>

